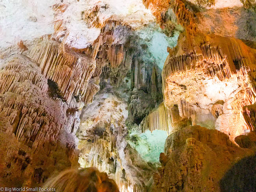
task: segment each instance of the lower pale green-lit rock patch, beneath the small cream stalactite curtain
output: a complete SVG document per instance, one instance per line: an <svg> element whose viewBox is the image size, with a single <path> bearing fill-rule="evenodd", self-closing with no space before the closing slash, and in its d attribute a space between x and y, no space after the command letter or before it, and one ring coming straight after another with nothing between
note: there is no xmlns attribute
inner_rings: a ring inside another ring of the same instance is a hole
<svg viewBox="0 0 256 192"><path fill-rule="evenodd" d="M155 130L146 131L139 135L131 133L130 137L135 138L136 141L128 141L128 143L135 148L147 162L159 162L160 153L164 151L165 140L167 138L166 131Z"/></svg>

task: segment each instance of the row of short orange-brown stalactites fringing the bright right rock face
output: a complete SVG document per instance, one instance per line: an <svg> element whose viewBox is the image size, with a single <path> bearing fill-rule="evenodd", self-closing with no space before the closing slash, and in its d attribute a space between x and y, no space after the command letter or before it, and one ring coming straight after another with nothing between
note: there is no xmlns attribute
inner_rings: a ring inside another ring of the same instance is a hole
<svg viewBox="0 0 256 192"><path fill-rule="evenodd" d="M163 81L172 74L189 70L202 72L206 77L217 77L221 81L231 77L232 70L228 56L223 54L219 47L207 44L200 46L200 49L201 54L193 51L176 57L169 56L162 72Z"/></svg>

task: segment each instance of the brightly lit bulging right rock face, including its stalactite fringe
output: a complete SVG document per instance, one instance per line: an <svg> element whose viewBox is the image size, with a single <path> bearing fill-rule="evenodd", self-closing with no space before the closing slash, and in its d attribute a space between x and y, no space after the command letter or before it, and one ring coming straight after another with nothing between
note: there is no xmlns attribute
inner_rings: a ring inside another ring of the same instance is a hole
<svg viewBox="0 0 256 192"><path fill-rule="evenodd" d="M255 100L251 77L256 57L255 50L243 42L221 39L211 40L219 42L217 49L214 45L201 45L198 52L167 58L162 73L163 95L169 110L178 104L180 117L190 119L194 125L201 123L201 116L213 114L217 118L216 129L234 139L248 129L240 113L243 106ZM228 55L223 55L223 50ZM218 103L221 100L224 103Z"/></svg>

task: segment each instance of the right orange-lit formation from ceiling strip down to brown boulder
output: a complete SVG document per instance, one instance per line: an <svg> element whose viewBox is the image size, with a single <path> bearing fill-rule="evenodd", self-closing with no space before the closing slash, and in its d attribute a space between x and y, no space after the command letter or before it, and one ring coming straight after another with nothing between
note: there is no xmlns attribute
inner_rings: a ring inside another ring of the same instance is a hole
<svg viewBox="0 0 256 192"><path fill-rule="evenodd" d="M172 1L170 7L185 28L178 45L169 49L162 71L164 103L175 117L172 128L202 125L234 140L248 129L241 115L243 106L255 101L256 50L241 40L204 34L193 9L179 0ZM180 121L187 123L175 123Z"/></svg>

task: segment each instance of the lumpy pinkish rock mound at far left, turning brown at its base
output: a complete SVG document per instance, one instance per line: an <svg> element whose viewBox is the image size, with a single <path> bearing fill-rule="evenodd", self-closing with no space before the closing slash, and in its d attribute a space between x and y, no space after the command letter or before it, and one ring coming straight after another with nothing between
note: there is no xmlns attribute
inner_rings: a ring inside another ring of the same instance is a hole
<svg viewBox="0 0 256 192"><path fill-rule="evenodd" d="M77 165L79 112L48 90L38 64L24 55L12 55L0 71L0 175L7 186L42 183Z"/></svg>

